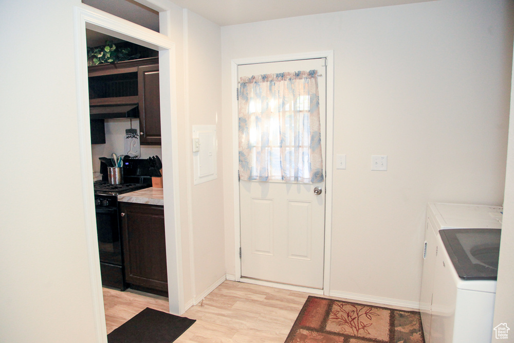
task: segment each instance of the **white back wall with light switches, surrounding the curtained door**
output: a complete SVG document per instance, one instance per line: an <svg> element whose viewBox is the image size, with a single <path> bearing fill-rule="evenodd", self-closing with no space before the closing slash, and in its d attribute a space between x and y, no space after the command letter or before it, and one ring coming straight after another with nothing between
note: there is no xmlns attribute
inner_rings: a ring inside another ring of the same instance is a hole
<svg viewBox="0 0 514 343"><path fill-rule="evenodd" d="M337 294L419 300L427 202L501 205L511 1L442 0L222 28L223 130L232 59L334 50L332 279ZM224 137L227 273L232 137ZM388 155L372 172L371 155Z"/></svg>

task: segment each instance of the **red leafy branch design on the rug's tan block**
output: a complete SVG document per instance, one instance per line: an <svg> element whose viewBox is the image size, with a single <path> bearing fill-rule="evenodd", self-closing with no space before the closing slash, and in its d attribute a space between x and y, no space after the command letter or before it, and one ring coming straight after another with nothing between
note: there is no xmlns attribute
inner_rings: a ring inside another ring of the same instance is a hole
<svg viewBox="0 0 514 343"><path fill-rule="evenodd" d="M345 309L345 307L350 309ZM363 316L373 320L372 316L379 316L369 306L358 306L350 303L336 302L330 313L330 319L339 324L343 333L351 333L355 336L360 331L370 334L367 328L373 325L372 322L364 323Z"/></svg>

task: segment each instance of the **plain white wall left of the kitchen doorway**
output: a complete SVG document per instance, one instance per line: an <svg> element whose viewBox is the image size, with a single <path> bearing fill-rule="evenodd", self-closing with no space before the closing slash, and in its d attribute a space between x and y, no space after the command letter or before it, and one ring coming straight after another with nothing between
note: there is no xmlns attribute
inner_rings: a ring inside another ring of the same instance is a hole
<svg viewBox="0 0 514 343"><path fill-rule="evenodd" d="M78 156L76 4L0 2L2 342L96 340Z"/></svg>

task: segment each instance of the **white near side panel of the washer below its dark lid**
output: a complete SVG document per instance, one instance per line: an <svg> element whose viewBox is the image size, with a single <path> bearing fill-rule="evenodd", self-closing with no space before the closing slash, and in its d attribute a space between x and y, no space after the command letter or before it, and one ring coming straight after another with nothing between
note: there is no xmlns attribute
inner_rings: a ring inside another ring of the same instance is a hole
<svg viewBox="0 0 514 343"><path fill-rule="evenodd" d="M494 293L457 291L453 343L490 342Z"/></svg>

